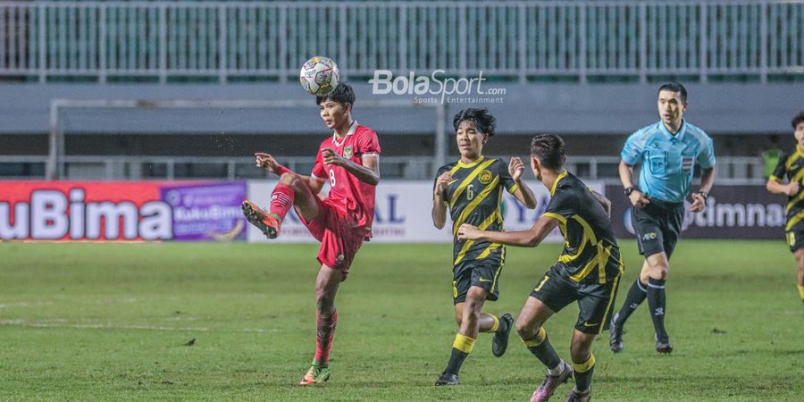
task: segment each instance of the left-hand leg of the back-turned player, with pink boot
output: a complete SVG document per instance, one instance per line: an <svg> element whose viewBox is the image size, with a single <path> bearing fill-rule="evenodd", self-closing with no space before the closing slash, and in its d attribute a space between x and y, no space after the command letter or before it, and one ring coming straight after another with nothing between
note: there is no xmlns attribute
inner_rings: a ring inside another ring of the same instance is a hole
<svg viewBox="0 0 804 402"><path fill-rule="evenodd" d="M541 382L539 388L533 391L532 402L548 400L559 385L569 381L573 376L572 367L558 357L556 349L550 344L547 331L543 327L553 314L556 313L540 299L528 297L528 301L525 302L522 312L516 319L516 331L519 333L519 337L533 356L536 356L548 369L544 381Z"/></svg>

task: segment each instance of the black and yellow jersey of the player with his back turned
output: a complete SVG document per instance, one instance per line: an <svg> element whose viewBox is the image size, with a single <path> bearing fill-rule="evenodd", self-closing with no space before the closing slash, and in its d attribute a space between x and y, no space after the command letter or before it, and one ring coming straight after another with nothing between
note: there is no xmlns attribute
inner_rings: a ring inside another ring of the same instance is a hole
<svg viewBox="0 0 804 402"><path fill-rule="evenodd" d="M624 270L606 210L573 174L558 175L543 216L558 221L565 244L556 266L564 269L571 280L606 283Z"/></svg>

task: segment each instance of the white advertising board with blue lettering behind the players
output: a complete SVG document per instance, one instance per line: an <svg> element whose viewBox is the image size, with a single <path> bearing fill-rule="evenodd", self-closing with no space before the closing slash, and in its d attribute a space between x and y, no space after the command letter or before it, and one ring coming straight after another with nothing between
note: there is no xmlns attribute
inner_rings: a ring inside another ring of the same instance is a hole
<svg viewBox="0 0 804 402"><path fill-rule="evenodd" d="M602 181L587 181L586 184L604 193ZM268 207L276 181L248 181L247 197L260 207ZM503 217L506 230L527 230L544 213L550 193L537 180L527 180L538 201L536 209L527 209L507 192L503 196ZM373 239L380 243L449 243L452 241L452 222L447 218L444 229L432 225L432 182L427 180L384 180L377 187L374 211ZM267 242L263 233L249 225L247 240L250 243ZM298 220L294 212L282 223L281 235L271 240L279 243L307 243L316 240ZM555 230L546 241L563 241Z"/></svg>

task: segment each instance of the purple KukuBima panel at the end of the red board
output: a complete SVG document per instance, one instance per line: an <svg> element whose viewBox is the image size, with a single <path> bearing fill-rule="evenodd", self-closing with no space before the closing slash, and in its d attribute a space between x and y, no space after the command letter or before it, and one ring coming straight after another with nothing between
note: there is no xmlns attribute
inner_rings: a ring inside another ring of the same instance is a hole
<svg viewBox="0 0 804 402"><path fill-rule="evenodd" d="M246 182L163 186L162 200L173 212L175 240L245 240L246 219L240 209Z"/></svg>

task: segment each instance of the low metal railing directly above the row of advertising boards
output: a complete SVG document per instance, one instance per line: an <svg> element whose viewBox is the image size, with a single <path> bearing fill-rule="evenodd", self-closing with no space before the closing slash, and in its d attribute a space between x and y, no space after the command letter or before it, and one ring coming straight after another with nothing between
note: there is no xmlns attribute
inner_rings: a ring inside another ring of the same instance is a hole
<svg viewBox="0 0 804 402"><path fill-rule="evenodd" d="M504 156L505 159L508 157ZM449 157L449 160L455 159L457 156ZM46 179L46 162L46 155L0 155L0 180ZM294 172L306 174L313 169L313 160L309 156L278 157L278 162ZM566 167L582 179L619 184L619 162L618 156L578 155L569 157ZM433 163L430 156L382 156L380 171L383 180L432 180ZM266 177L266 173L255 168L253 157L67 155L64 164L64 180L245 180ZM11 166L14 169L9 169ZM765 164L758 156L718 156L716 183L765 184L764 169Z"/></svg>

